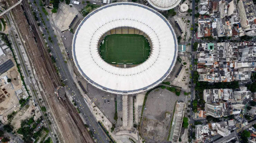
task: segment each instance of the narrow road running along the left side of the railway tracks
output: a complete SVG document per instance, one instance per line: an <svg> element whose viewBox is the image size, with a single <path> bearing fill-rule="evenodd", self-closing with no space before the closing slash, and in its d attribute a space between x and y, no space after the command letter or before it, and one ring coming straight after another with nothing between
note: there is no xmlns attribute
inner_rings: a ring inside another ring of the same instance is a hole
<svg viewBox="0 0 256 143"><path fill-rule="evenodd" d="M2 7L1 7L2 8ZM30 86L30 89L32 88L32 90L34 90L34 89L36 89L35 88L35 85L34 85L34 83L33 82L31 82L30 81L30 78L29 78L29 75L28 75L28 67L27 67L27 65L26 65L26 60L25 60L25 58L24 58L24 55L21 53L21 48L20 48L20 45L18 44L18 43L21 43L21 42L19 42L20 41L20 38L19 38L19 35L17 34L17 37L18 38L16 38L15 37L15 33L17 33L17 30L16 30L16 28L13 26L14 25L14 23L13 23L13 21L12 21L12 19L9 17L9 14L5 14L3 17L5 17L5 19L9 19L9 21L10 21L10 24L11 25L9 25L9 23L7 22L7 25L9 26L9 31L8 31L8 33L9 33L9 36L8 36L8 39L11 41L11 43L12 43L12 45L13 45L13 48L15 49L15 52L17 53L17 60L19 61L19 63L20 63L20 67L21 67L21 69L22 69L22 72L23 72L23 75L24 75L24 81L25 81L25 84L26 85L28 85L28 86ZM11 36L12 35L12 36ZM28 87L29 88L29 87ZM32 91L32 90L30 90L30 91ZM35 101L35 103L37 104L37 105L39 105L38 104L38 99L36 98L36 96L34 95L34 94L30 94L32 97L33 97L33 99L34 99L34 101ZM47 124L47 119L46 118L44 118L44 113L41 111L41 109L40 109L40 106L37 106L37 108L38 108L38 110L39 110L39 113L40 113L40 115L43 117L43 121ZM49 133L49 135L51 136L51 138L52 138L52 140L53 141L55 141L56 142L56 140L55 140L55 137L54 137L54 134L56 134L55 133L55 130L54 130L54 128L53 128L53 125L49 125L49 124L47 124L46 125L46 128L49 130L49 131L51 131L52 133ZM9 133L10 134L10 133ZM12 137L12 136L11 136ZM17 137L16 137L17 138ZM16 139L15 138L15 139ZM18 142L20 142L20 141L22 141L22 140L16 140L16 141L18 141Z"/></svg>

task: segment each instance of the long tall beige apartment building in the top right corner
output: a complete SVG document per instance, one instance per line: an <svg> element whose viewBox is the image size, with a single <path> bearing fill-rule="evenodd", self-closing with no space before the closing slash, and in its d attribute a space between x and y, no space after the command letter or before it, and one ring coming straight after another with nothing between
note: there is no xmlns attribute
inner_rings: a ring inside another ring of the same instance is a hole
<svg viewBox="0 0 256 143"><path fill-rule="evenodd" d="M241 17L241 27L245 30L252 30L250 25L255 25L255 8L252 0L239 0L238 4L239 16Z"/></svg>

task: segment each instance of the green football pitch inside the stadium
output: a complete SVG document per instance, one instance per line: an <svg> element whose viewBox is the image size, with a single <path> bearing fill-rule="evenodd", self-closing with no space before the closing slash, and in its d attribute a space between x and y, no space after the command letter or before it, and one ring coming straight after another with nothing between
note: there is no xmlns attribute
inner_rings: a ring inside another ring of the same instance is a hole
<svg viewBox="0 0 256 143"><path fill-rule="evenodd" d="M100 55L109 64L140 64L149 54L149 42L137 34L107 35L100 45Z"/></svg>

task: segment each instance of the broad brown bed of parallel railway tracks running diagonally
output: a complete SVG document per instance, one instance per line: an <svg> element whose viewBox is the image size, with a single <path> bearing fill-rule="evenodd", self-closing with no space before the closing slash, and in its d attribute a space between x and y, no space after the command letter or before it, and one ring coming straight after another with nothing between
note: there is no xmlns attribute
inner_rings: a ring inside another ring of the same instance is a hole
<svg viewBox="0 0 256 143"><path fill-rule="evenodd" d="M12 2L17 1L18 0L9 0L7 2L10 3L9 5L11 5ZM59 99L57 101L54 94L54 89L61 84L60 78L56 74L52 61L48 56L47 48L43 44L43 38L40 36L39 30L35 27L36 23L31 14L28 2L22 1L22 4L24 9L18 5L11 10L11 13L14 17L13 20L17 25L17 34L19 34L22 38L21 41L23 41L22 44L24 45L26 53L29 56L30 63L32 63L38 76L38 86L42 87L43 89L40 91L40 93L43 100L47 101L45 104L49 113L55 119L53 122L54 125L56 125L60 131L57 132L58 137L61 141L67 143L92 143L93 140L89 132L85 129L83 121L71 102L68 101L68 99ZM27 19L23 14L23 10L26 13ZM29 31L29 24L33 32Z"/></svg>

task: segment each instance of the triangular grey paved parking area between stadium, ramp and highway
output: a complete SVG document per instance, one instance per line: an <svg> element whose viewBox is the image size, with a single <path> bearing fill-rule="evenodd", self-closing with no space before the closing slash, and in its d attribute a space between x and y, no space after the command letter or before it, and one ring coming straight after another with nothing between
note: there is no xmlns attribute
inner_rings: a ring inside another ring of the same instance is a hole
<svg viewBox="0 0 256 143"><path fill-rule="evenodd" d="M116 120L114 120L114 115L116 112L116 95L108 94L107 92L94 88L90 84L87 84L87 90L87 95L89 98L93 100L99 109L102 108L101 112L109 119L111 123L115 123Z"/></svg>

